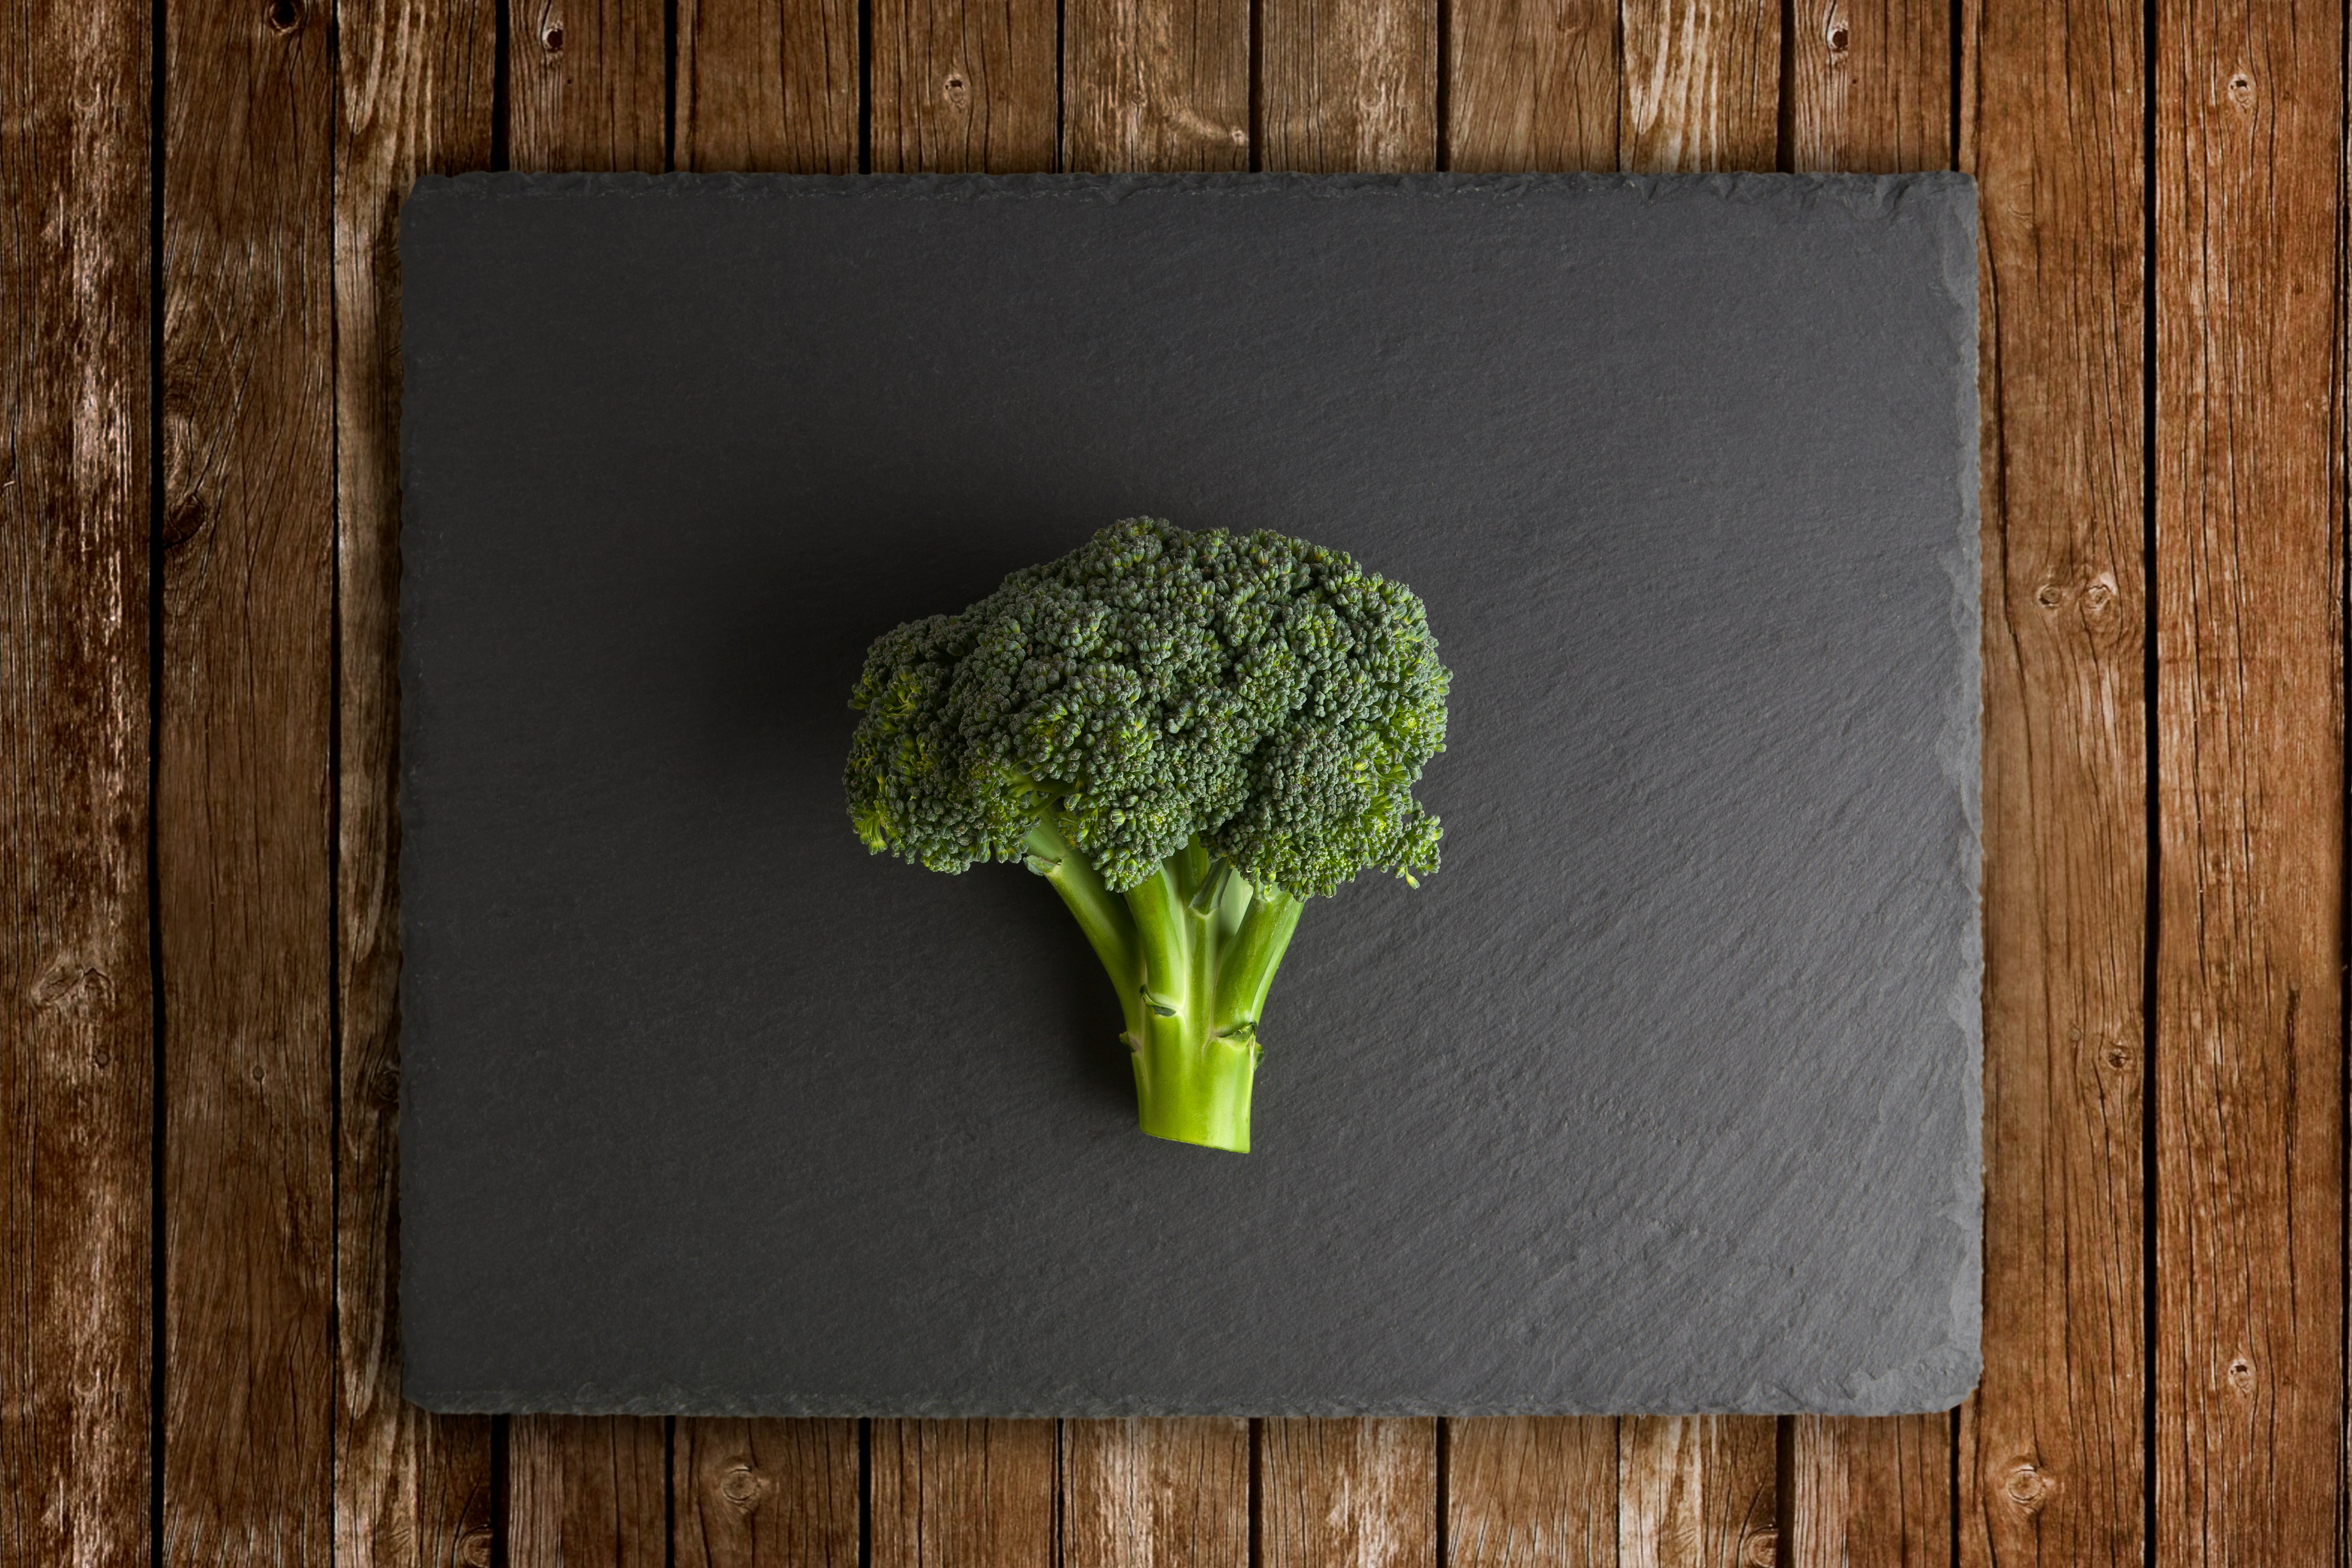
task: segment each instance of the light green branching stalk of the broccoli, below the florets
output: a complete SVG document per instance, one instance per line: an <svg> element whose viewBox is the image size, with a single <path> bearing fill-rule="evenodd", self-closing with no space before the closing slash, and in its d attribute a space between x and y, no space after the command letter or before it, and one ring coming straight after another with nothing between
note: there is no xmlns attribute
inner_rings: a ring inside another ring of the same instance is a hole
<svg viewBox="0 0 2352 1568"><path fill-rule="evenodd" d="M1120 994L1143 1131L1247 1154L1258 1016L1305 900L1251 889L1200 835L1127 893L1049 820L1023 863L1070 905Z"/></svg>

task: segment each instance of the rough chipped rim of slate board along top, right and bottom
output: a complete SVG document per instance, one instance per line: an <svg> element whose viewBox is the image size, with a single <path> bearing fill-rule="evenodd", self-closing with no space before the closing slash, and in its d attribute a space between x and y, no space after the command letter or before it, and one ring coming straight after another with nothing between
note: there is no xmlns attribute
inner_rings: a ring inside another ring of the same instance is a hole
<svg viewBox="0 0 2352 1568"><path fill-rule="evenodd" d="M901 197L901 200L1037 200L1037 197L1096 197L1105 205L1136 195L1268 195L1308 193L1334 200L1383 197L1383 195L1468 195L1491 200L1515 200L1531 193L1602 193L1639 190L1649 202L1726 200L1759 202L1780 197L1788 190L1802 195L1799 212L1820 202L1835 202L1849 216L1889 221L1900 214L1905 197L1919 190L1933 197L1931 226L1943 240L1945 292L1957 306L1952 341L1966 364L1978 360L1978 270L1976 270L1976 179L1957 172L1926 174L856 174L856 176L807 176L807 174L428 174L416 181L402 205L402 230L409 205L416 200L506 200L506 197L706 197L729 195L739 200L779 197ZM1940 219L1940 221L1938 221ZM1952 578L1952 635L1959 661L1955 672L1955 701L1947 708L1945 726L1938 736L1938 762L1945 778L1957 788L1971 842L1964 856L1964 882L1971 893L1971 919L1962 936L1959 966L1947 992L1947 1009L1959 1027L1969 1053L1969 1070L1962 1077L1964 1124L1983 1128L1983 788L1980 788L1980 741L1983 741L1983 611L1980 611L1980 407L1978 376L1964 376L1955 386L1957 430L1969 440L1959 444L1959 541L1957 548L1938 552L1938 562ZM405 421L407 423L407 421ZM407 607L402 607L402 623ZM405 670L405 675L412 675ZM1943 1211L1957 1225L1969 1246L1964 1267L1952 1281L1952 1338L1919 1361L1893 1368L1879 1378L1849 1380L1846 1399L1804 1399L1790 1389L1755 1387L1750 1396L1705 1408L1661 1406L1630 1401L1609 1410L1555 1408L1517 1403L1463 1403L1437 1406L1425 1401L1383 1403L1378 1408L1197 1408L1185 1415L1915 1415L1952 1410L1976 1392L1983 1375L1983 1138L1966 1140L1962 1161L1952 1173L1952 1201ZM708 1392L666 1389L659 1396L600 1394L595 1387L579 1387L574 1396L560 1399L543 1392L517 1394L515 1389L433 1389L428 1408L442 1413L572 1413L572 1415L741 1415L741 1418L1117 1418L1136 1415L1124 1406L1101 1408L1037 1408L1037 1410L964 1410L964 1408L903 1408L873 1406L833 1399L734 1399L713 1401ZM1164 1413L1164 1410L1150 1410Z"/></svg>

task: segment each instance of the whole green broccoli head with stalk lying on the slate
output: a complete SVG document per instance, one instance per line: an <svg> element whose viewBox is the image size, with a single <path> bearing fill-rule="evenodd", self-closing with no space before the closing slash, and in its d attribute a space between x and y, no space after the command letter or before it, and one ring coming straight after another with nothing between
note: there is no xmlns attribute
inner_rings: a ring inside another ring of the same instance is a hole
<svg viewBox="0 0 2352 1568"><path fill-rule="evenodd" d="M1437 870L1414 785L1449 679L1421 599L1348 555L1131 517L873 644L849 818L875 853L1051 882L1120 992L1143 1131L1247 1152L1305 900Z"/></svg>

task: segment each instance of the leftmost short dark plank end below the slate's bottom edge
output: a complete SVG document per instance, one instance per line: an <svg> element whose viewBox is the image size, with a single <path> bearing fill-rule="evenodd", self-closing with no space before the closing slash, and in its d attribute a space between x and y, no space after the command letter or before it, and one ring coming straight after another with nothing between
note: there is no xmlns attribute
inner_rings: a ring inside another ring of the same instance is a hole
<svg viewBox="0 0 2352 1568"><path fill-rule="evenodd" d="M649 1415L513 1418L506 1561L513 1568L666 1568L663 1427Z"/></svg>

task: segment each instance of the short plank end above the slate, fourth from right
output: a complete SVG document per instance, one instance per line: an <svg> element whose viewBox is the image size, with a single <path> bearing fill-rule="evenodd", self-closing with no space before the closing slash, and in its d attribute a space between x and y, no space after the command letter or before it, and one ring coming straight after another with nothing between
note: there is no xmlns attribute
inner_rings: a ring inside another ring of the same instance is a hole
<svg viewBox="0 0 2352 1568"><path fill-rule="evenodd" d="M1261 0L1258 165L1437 167L1437 0Z"/></svg>

